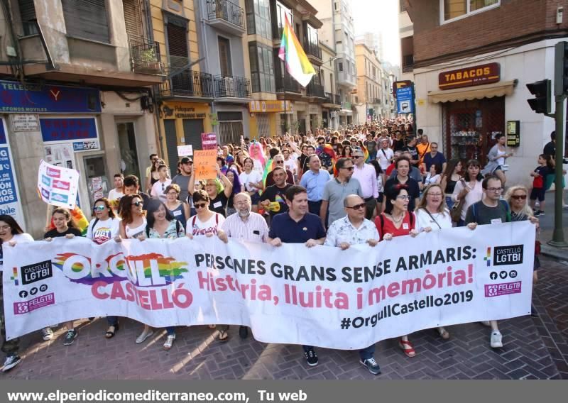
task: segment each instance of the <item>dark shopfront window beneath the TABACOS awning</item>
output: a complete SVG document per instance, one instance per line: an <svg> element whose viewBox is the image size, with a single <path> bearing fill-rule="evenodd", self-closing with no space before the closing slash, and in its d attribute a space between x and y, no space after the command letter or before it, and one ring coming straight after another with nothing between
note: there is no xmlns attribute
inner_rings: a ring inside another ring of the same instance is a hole
<svg viewBox="0 0 568 403"><path fill-rule="evenodd" d="M444 153L486 163L497 133L505 131L505 98L447 102L443 106Z"/></svg>

